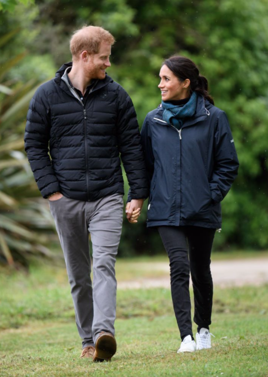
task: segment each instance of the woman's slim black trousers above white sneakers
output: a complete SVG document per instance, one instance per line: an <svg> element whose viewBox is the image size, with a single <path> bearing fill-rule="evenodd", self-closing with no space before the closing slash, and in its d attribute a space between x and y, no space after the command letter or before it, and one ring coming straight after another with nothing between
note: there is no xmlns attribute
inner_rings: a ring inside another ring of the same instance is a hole
<svg viewBox="0 0 268 377"><path fill-rule="evenodd" d="M170 261L170 280L173 308L183 339L193 336L190 271L194 293L194 322L209 328L211 324L213 282L210 255L216 229L194 226L160 226L159 234ZM189 255L189 257L188 257Z"/></svg>

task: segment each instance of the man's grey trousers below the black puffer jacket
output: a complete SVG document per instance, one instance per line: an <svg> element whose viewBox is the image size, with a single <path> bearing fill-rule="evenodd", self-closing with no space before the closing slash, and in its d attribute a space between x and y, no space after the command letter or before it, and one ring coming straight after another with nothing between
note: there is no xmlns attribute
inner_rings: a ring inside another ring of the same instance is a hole
<svg viewBox="0 0 268 377"><path fill-rule="evenodd" d="M49 206L64 253L82 346L94 346L101 331L115 334L115 256L122 230L123 195L109 195L92 202L63 196L49 201Z"/></svg>

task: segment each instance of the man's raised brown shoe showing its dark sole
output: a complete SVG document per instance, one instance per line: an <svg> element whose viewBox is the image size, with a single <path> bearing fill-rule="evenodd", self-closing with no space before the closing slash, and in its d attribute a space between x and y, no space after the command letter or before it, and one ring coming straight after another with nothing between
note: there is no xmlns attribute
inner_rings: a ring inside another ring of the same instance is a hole
<svg viewBox="0 0 268 377"><path fill-rule="evenodd" d="M96 340L93 361L109 361L116 352L116 340L110 333L100 333Z"/></svg>

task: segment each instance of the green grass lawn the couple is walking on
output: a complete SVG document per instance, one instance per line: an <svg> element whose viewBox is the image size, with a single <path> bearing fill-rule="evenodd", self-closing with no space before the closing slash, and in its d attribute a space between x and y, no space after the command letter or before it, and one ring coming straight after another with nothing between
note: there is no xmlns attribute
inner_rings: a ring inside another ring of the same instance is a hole
<svg viewBox="0 0 268 377"><path fill-rule="evenodd" d="M121 268L131 270L128 263L117 266L120 279ZM213 348L184 355L176 353L180 339L170 290L118 290L118 352L101 364L79 358L63 268L2 271L0 285L0 377L268 376L267 285L216 288Z"/></svg>

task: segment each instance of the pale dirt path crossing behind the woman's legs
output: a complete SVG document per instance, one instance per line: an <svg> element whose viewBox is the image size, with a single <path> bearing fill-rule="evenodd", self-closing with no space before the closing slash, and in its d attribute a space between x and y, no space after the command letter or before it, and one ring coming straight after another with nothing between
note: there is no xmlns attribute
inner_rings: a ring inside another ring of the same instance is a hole
<svg viewBox="0 0 268 377"><path fill-rule="evenodd" d="M155 270L156 276L161 271L161 277L121 281L118 288L170 288L168 264L152 264L152 270ZM167 272L167 276L163 277L163 271ZM211 262L211 273L214 285L220 287L265 284L268 283L268 258L214 261Z"/></svg>

